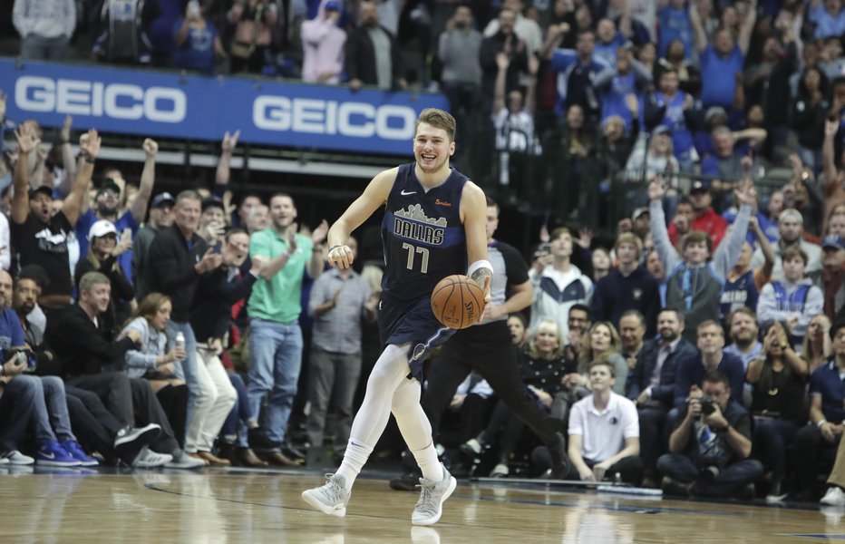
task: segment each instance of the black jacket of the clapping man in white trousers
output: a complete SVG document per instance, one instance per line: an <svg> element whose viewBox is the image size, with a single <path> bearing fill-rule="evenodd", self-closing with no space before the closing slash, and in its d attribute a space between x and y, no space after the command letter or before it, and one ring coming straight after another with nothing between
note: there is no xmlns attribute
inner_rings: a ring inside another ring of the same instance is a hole
<svg viewBox="0 0 845 544"><path fill-rule="evenodd" d="M232 325L232 306L252 293L257 277L250 273L243 277L228 277L228 269L219 267L199 278L190 308L190 326L197 342L222 338Z"/></svg>

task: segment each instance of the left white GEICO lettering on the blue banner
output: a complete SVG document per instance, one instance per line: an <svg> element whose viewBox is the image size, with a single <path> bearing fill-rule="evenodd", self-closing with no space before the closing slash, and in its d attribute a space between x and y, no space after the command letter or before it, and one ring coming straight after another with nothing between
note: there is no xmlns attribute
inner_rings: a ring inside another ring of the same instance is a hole
<svg viewBox="0 0 845 544"><path fill-rule="evenodd" d="M127 83L98 83L34 75L15 83L15 103L24 112L90 115L112 119L181 122L188 97L170 87L143 88Z"/></svg>

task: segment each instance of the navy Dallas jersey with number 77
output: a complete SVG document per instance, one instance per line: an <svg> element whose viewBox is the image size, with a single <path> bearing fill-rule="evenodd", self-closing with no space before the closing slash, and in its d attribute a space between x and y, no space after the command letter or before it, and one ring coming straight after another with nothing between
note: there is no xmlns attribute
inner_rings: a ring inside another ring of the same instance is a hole
<svg viewBox="0 0 845 544"><path fill-rule="evenodd" d="M428 192L414 164L399 167L382 221L384 293L403 300L429 297L442 278L466 274L467 244L461 223L466 176L449 178Z"/></svg>

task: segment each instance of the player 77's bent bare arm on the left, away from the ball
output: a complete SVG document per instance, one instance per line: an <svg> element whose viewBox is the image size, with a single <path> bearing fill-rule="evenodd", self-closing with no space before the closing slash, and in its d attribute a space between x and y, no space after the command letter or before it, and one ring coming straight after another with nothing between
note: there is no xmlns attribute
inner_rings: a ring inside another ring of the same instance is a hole
<svg viewBox="0 0 845 544"><path fill-rule="evenodd" d="M352 266L352 249L346 246L352 231L361 226L365 220L373 215L376 209L384 206L393 182L396 180L396 173L399 168L384 170L377 174L367 185L361 196L349 205L340 219L335 221L332 228L328 229L328 264L338 268Z"/></svg>

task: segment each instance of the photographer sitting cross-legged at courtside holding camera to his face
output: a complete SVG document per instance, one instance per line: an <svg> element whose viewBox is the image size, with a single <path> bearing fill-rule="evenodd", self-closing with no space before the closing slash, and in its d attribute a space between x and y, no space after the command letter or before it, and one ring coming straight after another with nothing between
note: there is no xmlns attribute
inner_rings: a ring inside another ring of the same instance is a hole
<svg viewBox="0 0 845 544"><path fill-rule="evenodd" d="M711 372L704 376L704 391L690 388L669 453L657 460L657 470L665 474L663 491L752 500L762 464L748 459L751 448L751 415L731 400L727 377Z"/></svg>

